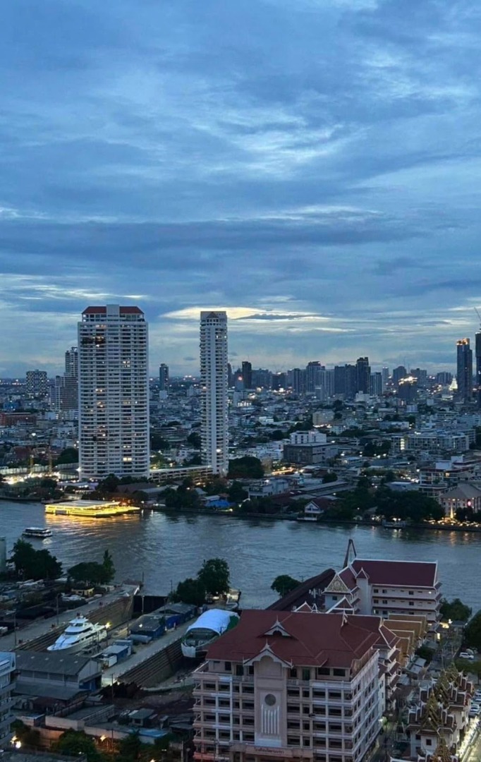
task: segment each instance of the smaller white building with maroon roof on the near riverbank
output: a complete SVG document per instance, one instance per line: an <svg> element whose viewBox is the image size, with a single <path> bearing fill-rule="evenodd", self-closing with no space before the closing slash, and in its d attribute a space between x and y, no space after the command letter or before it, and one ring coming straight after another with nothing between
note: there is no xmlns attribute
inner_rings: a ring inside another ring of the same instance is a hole
<svg viewBox="0 0 481 762"><path fill-rule="evenodd" d="M354 559L325 588L325 610L345 599L354 613L424 614L435 625L441 605L438 563Z"/></svg>

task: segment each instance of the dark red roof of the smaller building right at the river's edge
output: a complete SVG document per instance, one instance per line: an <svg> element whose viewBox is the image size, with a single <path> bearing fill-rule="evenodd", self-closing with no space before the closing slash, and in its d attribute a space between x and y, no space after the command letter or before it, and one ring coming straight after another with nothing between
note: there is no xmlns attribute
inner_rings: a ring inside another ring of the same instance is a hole
<svg viewBox="0 0 481 762"><path fill-rule="evenodd" d="M394 587L434 588L438 564L428 561L374 561L354 559L351 568L357 574L364 569L370 584L386 584ZM344 571L341 572L341 578Z"/></svg>

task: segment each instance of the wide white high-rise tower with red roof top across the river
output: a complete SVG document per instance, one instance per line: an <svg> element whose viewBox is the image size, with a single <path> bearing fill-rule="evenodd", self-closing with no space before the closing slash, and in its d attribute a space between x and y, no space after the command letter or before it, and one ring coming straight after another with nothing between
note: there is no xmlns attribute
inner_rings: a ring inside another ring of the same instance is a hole
<svg viewBox="0 0 481 762"><path fill-rule="evenodd" d="M84 478L149 475L148 330L139 307L87 307L79 322Z"/></svg>

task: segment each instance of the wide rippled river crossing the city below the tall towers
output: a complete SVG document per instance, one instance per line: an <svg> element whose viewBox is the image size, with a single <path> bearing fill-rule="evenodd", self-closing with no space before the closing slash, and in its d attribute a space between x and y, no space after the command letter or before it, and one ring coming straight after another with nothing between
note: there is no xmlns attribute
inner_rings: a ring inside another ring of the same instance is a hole
<svg viewBox="0 0 481 762"><path fill-rule="evenodd" d="M40 504L0 502L0 536L8 552L25 527L50 527L45 541L64 568L80 561L101 561L108 548L117 579L140 580L146 592L167 594L197 574L204 559L229 562L232 586L242 590L244 607L265 607L275 600L271 583L277 575L305 579L325 568L341 568L349 537L358 555L377 559L438 561L445 597L460 597L481 609L481 534L433 530L387 530L383 527L324 527L296 521L232 519L226 516L167 514L144 511L116 519L45 517Z"/></svg>

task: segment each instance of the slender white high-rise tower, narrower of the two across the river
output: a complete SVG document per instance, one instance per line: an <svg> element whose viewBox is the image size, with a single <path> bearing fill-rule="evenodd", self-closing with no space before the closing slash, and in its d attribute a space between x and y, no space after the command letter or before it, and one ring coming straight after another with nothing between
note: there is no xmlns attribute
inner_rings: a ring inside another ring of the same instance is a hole
<svg viewBox="0 0 481 762"><path fill-rule="evenodd" d="M214 474L229 465L227 314L200 312L201 455Z"/></svg>

